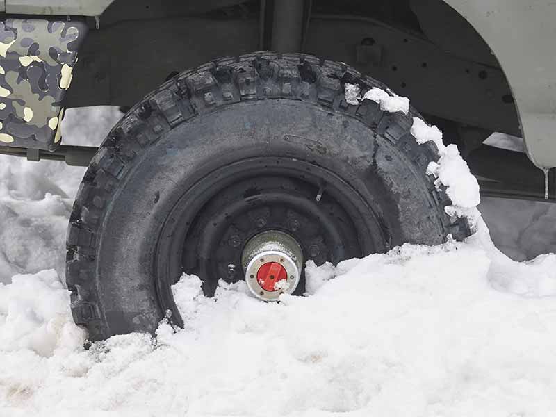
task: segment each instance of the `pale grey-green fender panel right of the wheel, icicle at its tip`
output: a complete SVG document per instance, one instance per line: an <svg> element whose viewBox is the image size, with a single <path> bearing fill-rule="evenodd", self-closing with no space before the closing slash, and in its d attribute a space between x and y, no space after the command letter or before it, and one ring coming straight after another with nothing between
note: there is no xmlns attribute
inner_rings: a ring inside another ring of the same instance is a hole
<svg viewBox="0 0 556 417"><path fill-rule="evenodd" d="M556 167L556 3L551 0L444 0L498 58L514 95L531 161Z"/></svg>

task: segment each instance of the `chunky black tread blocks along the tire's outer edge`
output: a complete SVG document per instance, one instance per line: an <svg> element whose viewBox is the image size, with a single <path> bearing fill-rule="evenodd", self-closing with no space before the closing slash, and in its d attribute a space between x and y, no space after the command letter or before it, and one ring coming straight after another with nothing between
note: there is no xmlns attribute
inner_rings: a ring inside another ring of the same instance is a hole
<svg viewBox="0 0 556 417"><path fill-rule="evenodd" d="M122 117L92 158L67 231L66 281L72 292L72 314L76 324L88 329L90 341L110 336L94 279L95 254L104 211L118 184L138 156L174 126L239 101L309 101L361 121L395 144L407 156L412 169L423 172L430 204L436 206L446 236L451 234L456 240L463 240L471 234L466 219L450 218L445 213L450 198L445 190L436 188L432 176L424 174L427 164L437 161L439 155L434 145L418 145L411 136L413 117L420 117L419 114L413 108L407 115L384 112L370 100L347 104L345 83L357 84L361 91L373 87L389 91L386 85L343 63L304 54L261 51L227 56L185 70L149 93Z"/></svg>

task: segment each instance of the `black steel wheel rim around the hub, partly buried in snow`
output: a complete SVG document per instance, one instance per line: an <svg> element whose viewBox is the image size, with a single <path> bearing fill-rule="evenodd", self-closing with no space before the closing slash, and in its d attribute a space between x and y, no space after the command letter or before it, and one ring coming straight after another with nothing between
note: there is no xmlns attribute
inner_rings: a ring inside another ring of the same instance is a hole
<svg viewBox="0 0 556 417"><path fill-rule="evenodd" d="M212 296L220 279L243 279L241 253L255 234L284 231L317 265L389 249L389 233L354 187L325 167L261 156L220 167L187 188L158 238L158 302L183 326L171 286L182 273L202 279ZM295 295L304 293L304 270Z"/></svg>

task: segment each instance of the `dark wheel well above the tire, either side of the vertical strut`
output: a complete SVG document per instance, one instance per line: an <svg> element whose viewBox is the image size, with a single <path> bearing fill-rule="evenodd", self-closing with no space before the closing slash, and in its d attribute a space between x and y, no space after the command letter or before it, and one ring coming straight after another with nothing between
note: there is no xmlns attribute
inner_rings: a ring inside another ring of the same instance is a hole
<svg viewBox="0 0 556 417"><path fill-rule="evenodd" d="M66 106L130 106L173 72L270 49L261 7L272 12L272 3L116 0L85 40ZM374 76L423 113L519 134L496 58L443 0L306 0L304 7L304 52Z"/></svg>

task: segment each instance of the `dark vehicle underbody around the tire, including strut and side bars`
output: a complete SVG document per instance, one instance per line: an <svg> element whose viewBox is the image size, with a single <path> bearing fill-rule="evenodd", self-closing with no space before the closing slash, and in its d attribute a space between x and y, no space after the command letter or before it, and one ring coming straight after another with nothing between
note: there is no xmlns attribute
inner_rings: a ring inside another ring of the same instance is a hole
<svg viewBox="0 0 556 417"><path fill-rule="evenodd" d="M65 108L125 110L177 72L220 56L301 51L347 63L409 97L445 142L458 145L483 195L545 197L544 174L524 153L482 143L493 132L521 136L516 106L496 57L443 1L118 0L86 20ZM0 147L73 165L88 165L95 151ZM556 199L556 188L548 191Z"/></svg>

